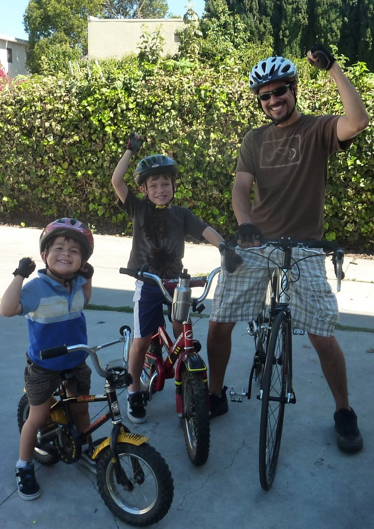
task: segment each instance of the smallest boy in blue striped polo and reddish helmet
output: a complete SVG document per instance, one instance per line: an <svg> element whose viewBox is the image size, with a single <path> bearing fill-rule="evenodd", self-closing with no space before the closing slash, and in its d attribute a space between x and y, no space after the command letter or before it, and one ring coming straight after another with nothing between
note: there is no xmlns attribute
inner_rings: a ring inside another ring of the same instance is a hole
<svg viewBox="0 0 374 529"><path fill-rule="evenodd" d="M63 344L87 343L82 311L92 291L93 267L87 263L93 252L92 234L78 220L62 218L48 224L39 244L46 269L23 285L36 265L29 257L21 259L0 305L2 316L25 316L29 331L25 385L30 412L22 428L16 465L18 493L23 500L35 500L41 494L32 463L33 451L38 429L49 420L51 397L61 381L59 373L66 369L74 371L74 377L67 382L72 395L89 393L91 378L83 351L50 360L42 360L40 351ZM76 426L82 432L90 424L88 405L74 408Z"/></svg>

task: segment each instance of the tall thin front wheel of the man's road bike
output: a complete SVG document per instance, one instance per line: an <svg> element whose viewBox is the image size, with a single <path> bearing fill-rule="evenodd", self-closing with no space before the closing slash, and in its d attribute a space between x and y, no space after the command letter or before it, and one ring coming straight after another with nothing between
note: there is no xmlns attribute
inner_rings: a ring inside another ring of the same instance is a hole
<svg viewBox="0 0 374 529"><path fill-rule="evenodd" d="M264 490L273 484L282 439L289 368L288 332L287 317L281 312L272 325L261 384L259 471Z"/></svg>

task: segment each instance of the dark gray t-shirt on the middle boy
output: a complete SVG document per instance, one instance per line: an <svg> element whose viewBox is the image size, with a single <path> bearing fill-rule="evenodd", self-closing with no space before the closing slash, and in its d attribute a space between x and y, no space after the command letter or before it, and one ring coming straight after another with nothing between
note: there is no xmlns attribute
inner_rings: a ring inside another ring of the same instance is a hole
<svg viewBox="0 0 374 529"><path fill-rule="evenodd" d="M169 205L157 208L148 199L139 199L129 189L120 207L133 220L133 242L129 268L149 265L149 272L163 279L176 278L183 268L184 241L189 235L200 241L208 224L189 209Z"/></svg>

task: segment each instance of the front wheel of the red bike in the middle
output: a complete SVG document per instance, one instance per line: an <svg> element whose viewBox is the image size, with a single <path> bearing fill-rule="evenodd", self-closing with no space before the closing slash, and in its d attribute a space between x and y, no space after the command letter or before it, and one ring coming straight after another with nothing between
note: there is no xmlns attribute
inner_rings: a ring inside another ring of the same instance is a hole
<svg viewBox="0 0 374 529"><path fill-rule="evenodd" d="M208 390L200 372L182 373L183 431L187 452L196 466L204 465L209 457L210 421Z"/></svg>

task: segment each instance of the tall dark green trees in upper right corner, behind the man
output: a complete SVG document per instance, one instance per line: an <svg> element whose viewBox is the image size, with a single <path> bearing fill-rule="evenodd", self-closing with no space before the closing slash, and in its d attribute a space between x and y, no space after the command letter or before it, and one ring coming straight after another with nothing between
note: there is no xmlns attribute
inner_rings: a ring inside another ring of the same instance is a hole
<svg viewBox="0 0 374 529"><path fill-rule="evenodd" d="M244 22L250 42L273 42L274 54L304 57L322 42L374 70L374 0L206 0L207 18L222 1Z"/></svg>

